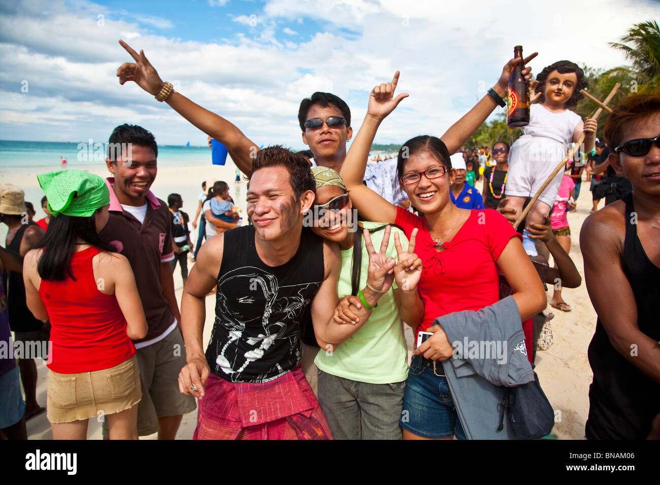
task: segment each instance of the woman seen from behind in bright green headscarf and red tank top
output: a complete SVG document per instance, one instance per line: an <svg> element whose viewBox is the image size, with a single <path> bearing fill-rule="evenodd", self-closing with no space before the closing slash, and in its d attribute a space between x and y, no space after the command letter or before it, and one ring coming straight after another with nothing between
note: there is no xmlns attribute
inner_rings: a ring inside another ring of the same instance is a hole
<svg viewBox="0 0 660 485"><path fill-rule="evenodd" d="M131 339L147 321L128 260L98 236L108 222L104 179L80 170L38 175L51 222L25 255L30 311L51 323L48 420L54 439L85 439L88 418L110 439L137 439L140 375Z"/></svg>

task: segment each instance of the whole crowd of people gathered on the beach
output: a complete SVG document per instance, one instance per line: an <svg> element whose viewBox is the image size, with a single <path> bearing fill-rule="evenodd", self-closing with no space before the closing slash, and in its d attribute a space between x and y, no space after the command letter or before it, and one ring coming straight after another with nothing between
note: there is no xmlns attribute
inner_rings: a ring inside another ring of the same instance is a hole
<svg viewBox="0 0 660 485"><path fill-rule="evenodd" d="M158 146L137 125L112 131L109 144L132 149L130 159L108 151L110 177L38 175L42 220L32 222L19 187L1 187L9 232L0 249L8 275L0 344L49 342L48 352L18 355L18 364L1 356L1 435L26 439L26 420L44 412L34 361L44 358L54 439L85 439L88 420L99 416L106 439L174 439L195 408L193 439L553 437L554 412L533 362L547 345L544 286L554 285L552 307L570 311L562 288L581 284L566 214L585 172L594 213L579 242L598 315L585 436L660 438L652 308L660 290L660 94L624 98L597 141L597 121L568 109L583 73L560 61L531 82L539 102L519 141L466 148L504 104L513 67L536 53L517 57L442 136L413 137L395 158L368 164L380 123L408 96L396 94L399 71L372 89L357 133L341 98L315 92L298 112L309 152L259 149L163 82L142 51L120 44L133 57L117 69L121 84L135 82L209 145L226 146L249 180L248 220L228 183L213 178L202 183L192 219L180 194L155 197ZM523 76L531 79L529 67ZM556 153L582 135L583 152L593 148L588 162L569 162L530 202L561 160ZM539 146L548 155L532 160ZM205 348L209 295L215 315ZM414 331L411 360L403 325Z"/></svg>

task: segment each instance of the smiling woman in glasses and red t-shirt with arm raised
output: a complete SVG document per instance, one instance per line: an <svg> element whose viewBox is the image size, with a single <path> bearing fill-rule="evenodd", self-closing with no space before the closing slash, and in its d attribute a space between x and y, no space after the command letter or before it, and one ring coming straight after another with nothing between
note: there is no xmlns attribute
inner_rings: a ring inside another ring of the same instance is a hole
<svg viewBox="0 0 660 485"><path fill-rule="evenodd" d="M504 68L502 80L517 61ZM401 188L420 217L385 201L362 184L365 160L380 122L407 97L393 99L399 73L391 83L372 90L362 127L352 142L341 176L350 199L361 216L378 222L394 223L410 237L418 228L415 252L424 270L418 291L424 302L424 316L419 322L407 322L419 331L433 333L416 348L407 379L401 419L404 439L464 438L463 428L453 404L442 366L437 372L434 361L451 357L453 347L437 317L454 311L479 310L498 301L498 269L510 283L521 321L535 315L547 304L541 280L525 254L520 236L511 224L492 209L459 209L449 197L455 178L449 154L455 152L494 108L490 96L465 115L444 135L445 143L430 136L414 137L399 150L397 175ZM506 81L505 81L506 82Z"/></svg>

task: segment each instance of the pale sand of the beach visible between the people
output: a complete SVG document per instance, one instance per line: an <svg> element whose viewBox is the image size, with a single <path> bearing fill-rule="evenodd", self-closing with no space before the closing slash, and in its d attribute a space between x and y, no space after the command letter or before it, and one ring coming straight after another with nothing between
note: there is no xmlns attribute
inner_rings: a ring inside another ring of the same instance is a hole
<svg viewBox="0 0 660 485"><path fill-rule="evenodd" d="M104 166L100 166L95 171L100 176L108 176ZM246 219L246 181L241 181L234 185L234 164L227 162L226 166L181 166L181 167L162 167L158 170L158 176L152 191L160 198L167 199L167 195L172 192L180 193L183 197L185 210L191 218L195 216L197 209L197 197L201 193L201 182L205 179L215 178L224 180L230 185L230 194L236 204L243 209L244 222ZM0 183L13 183L21 187L26 192L26 200L32 201L37 209L36 218L43 217L41 209L38 207L39 201L43 195L36 177L32 175L21 176L0 176ZM477 183L480 190L480 183ZM602 207L601 202L601 207ZM572 230L572 247L570 255L579 272L583 276L583 261L579 250L579 230L589 215L591 209L591 193L588 190L588 183L583 183L582 193L578 199L577 212L568 213L568 221ZM7 227L0 225L0 236L3 238ZM193 235L193 241L196 234ZM189 262L188 268L191 269L193 263ZM174 272L174 284L177 297L182 294L183 282L180 271L177 267ZM596 323L596 313L591 306L587 289L584 282L579 288L574 290L564 289L562 292L564 300L572 306L572 311L565 313L551 308L548 305L546 311L554 313L552 320L552 331L554 333L554 344L546 351L537 352L536 371L539 374L541 385L545 390L550 403L556 412L557 423L553 433L559 439L583 439L584 424L587 419L589 408L589 399L587 396L589 384L591 383L591 369L587 362L587 346L593 336ZM548 292L548 302L552 297L552 288ZM211 335L211 325L214 318L215 298L207 297L206 300L206 321L204 329L205 345ZM407 331L409 345L412 344L412 333ZM48 369L43 362L38 362L38 385L37 399L42 405L46 405L46 391L48 386ZM177 439L191 439L195 429L197 411L183 416L183 422L177 435ZM46 413L32 418L27 424L28 436L30 439L52 439L52 434ZM88 439L100 439L100 423L90 420L88 428ZM146 439L156 439L156 435L146 437Z"/></svg>

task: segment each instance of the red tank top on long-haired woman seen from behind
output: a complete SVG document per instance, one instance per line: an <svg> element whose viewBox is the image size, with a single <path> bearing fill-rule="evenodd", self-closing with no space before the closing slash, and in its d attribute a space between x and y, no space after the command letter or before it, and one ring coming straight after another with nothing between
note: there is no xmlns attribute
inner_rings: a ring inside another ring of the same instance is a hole
<svg viewBox="0 0 660 485"><path fill-rule="evenodd" d="M126 335L126 319L117 298L100 292L92 258L100 253L88 247L71 255L71 274L64 281L42 280L41 296L52 326L53 372L94 372L121 364L135 346ZM50 357L50 356L49 356Z"/></svg>

